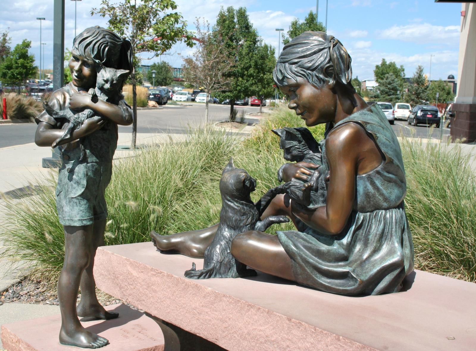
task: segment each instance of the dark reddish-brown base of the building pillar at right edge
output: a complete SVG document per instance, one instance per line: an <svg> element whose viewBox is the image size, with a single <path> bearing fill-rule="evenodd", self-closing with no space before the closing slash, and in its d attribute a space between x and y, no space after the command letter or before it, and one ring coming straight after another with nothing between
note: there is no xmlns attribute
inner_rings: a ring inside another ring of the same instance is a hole
<svg viewBox="0 0 476 351"><path fill-rule="evenodd" d="M451 119L451 140L476 141L476 104L454 103L451 110L455 112Z"/></svg>

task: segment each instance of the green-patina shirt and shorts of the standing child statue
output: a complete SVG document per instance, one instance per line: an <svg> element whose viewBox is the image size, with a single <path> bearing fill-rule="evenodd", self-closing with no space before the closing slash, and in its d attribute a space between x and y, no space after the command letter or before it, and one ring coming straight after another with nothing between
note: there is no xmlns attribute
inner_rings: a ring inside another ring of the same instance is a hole
<svg viewBox="0 0 476 351"><path fill-rule="evenodd" d="M69 97L77 92L69 83L51 95L50 106L61 111L69 106ZM119 104L128 109L125 103ZM54 119L46 111L36 117L36 122L45 122L57 129L64 129L66 118ZM103 127L73 142L59 146L61 166L56 187L56 207L60 223L69 226L86 226L104 220L108 210L104 194L112 174L112 158L117 148L118 127L106 120ZM82 156L82 144L85 157Z"/></svg>

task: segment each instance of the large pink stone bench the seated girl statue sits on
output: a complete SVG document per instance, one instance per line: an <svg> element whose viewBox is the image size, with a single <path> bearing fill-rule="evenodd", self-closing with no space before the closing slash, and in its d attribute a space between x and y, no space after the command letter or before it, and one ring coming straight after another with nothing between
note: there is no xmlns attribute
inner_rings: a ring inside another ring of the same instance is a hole
<svg viewBox="0 0 476 351"><path fill-rule="evenodd" d="M100 247L99 289L227 350L475 350L476 284L416 271L407 291L346 297L258 272L190 280L203 260L150 242Z"/></svg>

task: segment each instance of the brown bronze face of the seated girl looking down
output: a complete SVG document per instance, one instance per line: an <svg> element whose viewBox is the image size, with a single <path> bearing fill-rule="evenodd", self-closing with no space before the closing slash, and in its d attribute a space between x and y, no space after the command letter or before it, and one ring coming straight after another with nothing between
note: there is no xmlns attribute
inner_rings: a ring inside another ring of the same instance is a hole
<svg viewBox="0 0 476 351"><path fill-rule="evenodd" d="M334 120L337 94L328 83L316 88L303 78L287 79L287 85L279 89L289 97L288 108L295 110L308 127Z"/></svg>

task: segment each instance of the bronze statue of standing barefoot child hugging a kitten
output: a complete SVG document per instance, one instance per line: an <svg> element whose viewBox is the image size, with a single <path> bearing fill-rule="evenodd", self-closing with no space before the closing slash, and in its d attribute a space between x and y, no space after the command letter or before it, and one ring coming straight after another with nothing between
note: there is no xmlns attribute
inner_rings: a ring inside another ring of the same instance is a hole
<svg viewBox="0 0 476 351"><path fill-rule="evenodd" d="M65 235L65 259L58 282L60 343L64 345L107 345L107 339L84 329L78 316L89 320L118 317L118 313L105 311L99 304L93 265L96 249L104 244L108 216L104 193L111 178L118 124L132 123L130 107L120 95L124 79L132 70L131 53L130 42L110 30L96 26L81 32L71 49L72 81L53 92L45 105L48 111L36 118L36 144L61 145L56 206ZM104 77L106 72L109 78ZM90 89L102 89L110 97L107 100L115 103L101 99L106 95L89 94ZM72 123L68 116L84 110L92 111L92 117L65 133ZM76 306L79 288L81 301Z"/></svg>

